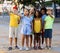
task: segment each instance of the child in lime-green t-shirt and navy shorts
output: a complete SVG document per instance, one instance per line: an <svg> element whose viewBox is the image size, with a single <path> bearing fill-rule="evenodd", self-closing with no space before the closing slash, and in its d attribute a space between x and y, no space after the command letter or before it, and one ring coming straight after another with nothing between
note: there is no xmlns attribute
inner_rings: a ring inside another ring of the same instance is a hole
<svg viewBox="0 0 60 53"><path fill-rule="evenodd" d="M52 27L53 27L53 22L54 22L54 17L52 16L51 9L47 10L47 16L46 16L44 21L45 21L45 25L44 25L45 34L44 34L44 37L45 37L46 48L50 49L51 48L51 41L52 41Z"/></svg>

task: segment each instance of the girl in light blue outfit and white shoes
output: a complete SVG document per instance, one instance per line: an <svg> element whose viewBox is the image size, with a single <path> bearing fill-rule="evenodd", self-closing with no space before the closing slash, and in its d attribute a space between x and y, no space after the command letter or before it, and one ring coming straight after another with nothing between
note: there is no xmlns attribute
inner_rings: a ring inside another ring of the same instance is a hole
<svg viewBox="0 0 60 53"><path fill-rule="evenodd" d="M29 36L31 35L32 29L31 29L31 22L32 17L29 17L29 10L24 9L24 16L22 16L22 28L21 28L21 34L22 34L22 48L20 50L29 50ZM26 39L26 42L25 42ZM26 48L24 48L24 42L26 43Z"/></svg>

